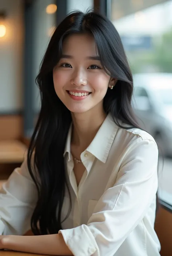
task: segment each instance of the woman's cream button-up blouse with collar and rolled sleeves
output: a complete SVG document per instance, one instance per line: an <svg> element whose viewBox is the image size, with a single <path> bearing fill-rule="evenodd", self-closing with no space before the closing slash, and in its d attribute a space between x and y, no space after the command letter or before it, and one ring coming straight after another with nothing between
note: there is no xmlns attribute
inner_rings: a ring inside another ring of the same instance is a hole
<svg viewBox="0 0 172 256"><path fill-rule="evenodd" d="M154 139L140 129L119 128L108 115L81 154L85 172L77 186L71 129L64 158L72 208L59 233L73 255L160 256L154 231L158 187ZM24 161L0 191L0 234L22 235L30 229L36 195ZM62 220L69 202L66 191Z"/></svg>

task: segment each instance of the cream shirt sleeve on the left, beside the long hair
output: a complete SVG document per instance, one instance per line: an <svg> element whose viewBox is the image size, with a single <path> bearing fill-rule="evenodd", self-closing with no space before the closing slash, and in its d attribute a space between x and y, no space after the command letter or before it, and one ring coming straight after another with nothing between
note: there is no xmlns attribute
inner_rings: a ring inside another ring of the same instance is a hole
<svg viewBox="0 0 172 256"><path fill-rule="evenodd" d="M0 190L0 235L23 235L28 231L36 202L36 186L24 160Z"/></svg>

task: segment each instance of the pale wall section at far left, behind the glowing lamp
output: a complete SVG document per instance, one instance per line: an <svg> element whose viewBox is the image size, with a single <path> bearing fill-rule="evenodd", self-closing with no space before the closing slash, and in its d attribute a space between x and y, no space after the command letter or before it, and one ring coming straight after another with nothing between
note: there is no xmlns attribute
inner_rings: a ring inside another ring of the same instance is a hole
<svg viewBox="0 0 172 256"><path fill-rule="evenodd" d="M23 10L22 0L0 0L6 35L0 37L0 113L22 108ZM0 21L2 22L2 21Z"/></svg>

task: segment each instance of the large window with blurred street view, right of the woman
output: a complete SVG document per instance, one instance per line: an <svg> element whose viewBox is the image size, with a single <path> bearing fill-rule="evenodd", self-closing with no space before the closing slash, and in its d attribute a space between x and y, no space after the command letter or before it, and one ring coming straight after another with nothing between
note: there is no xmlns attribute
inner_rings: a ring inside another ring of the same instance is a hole
<svg viewBox="0 0 172 256"><path fill-rule="evenodd" d="M160 198L172 206L172 0L111 0L107 10L134 75L137 115L145 129L164 145L159 191ZM151 111L145 111L148 101Z"/></svg>

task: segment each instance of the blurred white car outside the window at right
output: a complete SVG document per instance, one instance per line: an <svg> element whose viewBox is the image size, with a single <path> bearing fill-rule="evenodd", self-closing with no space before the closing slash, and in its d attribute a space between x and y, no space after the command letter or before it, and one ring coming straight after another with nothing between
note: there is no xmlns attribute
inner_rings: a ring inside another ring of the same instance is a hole
<svg viewBox="0 0 172 256"><path fill-rule="evenodd" d="M159 153L172 157L172 73L134 75L132 103L142 129L156 140Z"/></svg>

